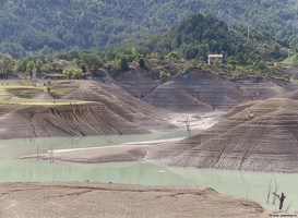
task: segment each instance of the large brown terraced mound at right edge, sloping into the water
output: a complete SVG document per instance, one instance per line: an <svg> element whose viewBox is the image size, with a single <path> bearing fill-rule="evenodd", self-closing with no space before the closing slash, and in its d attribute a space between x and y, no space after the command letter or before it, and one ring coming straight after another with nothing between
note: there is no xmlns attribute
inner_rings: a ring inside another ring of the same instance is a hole
<svg viewBox="0 0 298 218"><path fill-rule="evenodd" d="M213 128L155 147L150 158L179 167L298 172L298 101L241 104Z"/></svg>

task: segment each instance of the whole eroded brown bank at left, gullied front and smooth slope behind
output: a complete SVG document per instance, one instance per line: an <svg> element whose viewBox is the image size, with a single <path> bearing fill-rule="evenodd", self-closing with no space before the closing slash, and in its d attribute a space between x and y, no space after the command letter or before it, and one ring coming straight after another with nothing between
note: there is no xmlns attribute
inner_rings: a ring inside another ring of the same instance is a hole
<svg viewBox="0 0 298 218"><path fill-rule="evenodd" d="M60 99L45 98L38 88L11 89L9 101L0 107L0 138L140 134L175 128L165 111L136 99L117 84L57 82L51 90ZM20 92L33 98L20 98ZM20 105L36 100L36 106ZM74 105L78 100L93 104ZM51 106L43 106L48 101Z"/></svg>

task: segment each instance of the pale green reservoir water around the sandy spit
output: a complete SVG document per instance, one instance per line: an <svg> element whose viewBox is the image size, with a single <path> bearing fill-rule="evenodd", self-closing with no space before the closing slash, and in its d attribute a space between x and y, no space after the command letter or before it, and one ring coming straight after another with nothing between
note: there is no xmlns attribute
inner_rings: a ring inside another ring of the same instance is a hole
<svg viewBox="0 0 298 218"><path fill-rule="evenodd" d="M274 192L284 192L284 209L298 210L298 174L245 172L231 170L176 168L156 161L69 164L19 160L17 157L45 153L51 147L82 148L118 145L126 142L154 141L186 136L186 131L147 135L57 137L0 141L0 182L98 181L144 185L208 186L222 194L253 199L266 209L277 209L272 196L266 203L270 183ZM275 185L276 183L276 185Z"/></svg>

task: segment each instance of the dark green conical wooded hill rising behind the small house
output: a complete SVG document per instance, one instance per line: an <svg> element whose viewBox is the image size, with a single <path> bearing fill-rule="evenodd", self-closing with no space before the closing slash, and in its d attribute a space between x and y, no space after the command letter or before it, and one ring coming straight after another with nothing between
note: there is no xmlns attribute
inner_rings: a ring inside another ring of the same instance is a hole
<svg viewBox="0 0 298 218"><path fill-rule="evenodd" d="M200 61L207 61L210 53L223 53L226 60L241 64L246 64L249 59L286 57L285 49L266 43L267 40L257 32L251 31L248 39L241 29L230 28L225 22L211 14L198 13L184 17L164 34L99 48L97 52L103 57L135 48L141 53L156 52L167 55L168 58L179 57Z"/></svg>

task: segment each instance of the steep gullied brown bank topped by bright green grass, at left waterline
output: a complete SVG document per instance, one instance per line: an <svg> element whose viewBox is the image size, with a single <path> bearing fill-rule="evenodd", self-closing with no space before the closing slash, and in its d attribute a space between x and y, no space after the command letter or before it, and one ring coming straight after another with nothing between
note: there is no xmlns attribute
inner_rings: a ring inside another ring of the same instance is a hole
<svg viewBox="0 0 298 218"><path fill-rule="evenodd" d="M148 133L104 105L26 107L0 120L0 138Z"/></svg>

